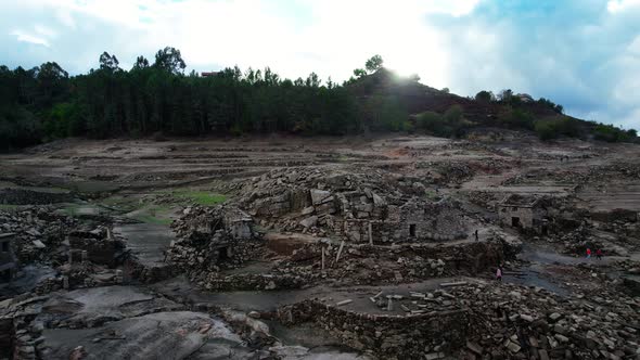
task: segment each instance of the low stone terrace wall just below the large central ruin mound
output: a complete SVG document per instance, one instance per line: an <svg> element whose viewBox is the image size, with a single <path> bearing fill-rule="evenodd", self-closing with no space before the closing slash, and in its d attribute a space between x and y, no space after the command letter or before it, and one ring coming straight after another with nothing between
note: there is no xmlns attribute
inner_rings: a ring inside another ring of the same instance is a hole
<svg viewBox="0 0 640 360"><path fill-rule="evenodd" d="M300 253L304 254L300 255ZM340 253L340 256L338 256ZM393 284L453 274L475 274L504 261L504 247L499 241L449 246L406 244L392 247L337 244L321 247L307 245L290 259L279 262L280 273L333 279L349 284Z"/></svg>

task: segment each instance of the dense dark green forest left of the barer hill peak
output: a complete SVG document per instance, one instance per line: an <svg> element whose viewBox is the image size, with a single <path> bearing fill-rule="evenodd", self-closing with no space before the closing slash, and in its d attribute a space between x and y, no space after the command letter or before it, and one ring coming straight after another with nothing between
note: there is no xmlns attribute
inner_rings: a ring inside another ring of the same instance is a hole
<svg viewBox="0 0 640 360"><path fill-rule="evenodd" d="M184 75L180 51L139 56L129 70L104 52L100 67L71 76L48 62L31 69L0 67L0 143L166 133L241 134L287 131L345 134L361 130L357 104L344 86L281 78L270 68L238 66L203 77Z"/></svg>

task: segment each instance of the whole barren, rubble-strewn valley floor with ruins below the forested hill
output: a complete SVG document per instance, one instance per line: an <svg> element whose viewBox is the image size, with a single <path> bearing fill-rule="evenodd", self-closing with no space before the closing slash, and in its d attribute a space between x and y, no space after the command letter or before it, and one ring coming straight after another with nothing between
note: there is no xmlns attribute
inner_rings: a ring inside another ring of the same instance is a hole
<svg viewBox="0 0 640 360"><path fill-rule="evenodd" d="M0 359L640 359L639 155L504 130L3 154Z"/></svg>

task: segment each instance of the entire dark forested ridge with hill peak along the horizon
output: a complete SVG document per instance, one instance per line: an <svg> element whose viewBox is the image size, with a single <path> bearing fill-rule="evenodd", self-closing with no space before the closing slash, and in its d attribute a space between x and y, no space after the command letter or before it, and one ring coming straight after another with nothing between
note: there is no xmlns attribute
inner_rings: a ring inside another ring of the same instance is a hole
<svg viewBox="0 0 640 360"><path fill-rule="evenodd" d="M474 99L436 90L418 77L401 78L373 56L342 85L283 79L269 68L238 67L184 75L174 48L153 62L139 56L129 70L104 52L98 69L68 76L55 62L24 69L0 66L0 147L22 147L65 137L138 137L291 132L347 134L362 131L424 131L461 137L476 126L535 130L543 139L636 138L635 131L562 115L540 99L522 101L511 90Z"/></svg>

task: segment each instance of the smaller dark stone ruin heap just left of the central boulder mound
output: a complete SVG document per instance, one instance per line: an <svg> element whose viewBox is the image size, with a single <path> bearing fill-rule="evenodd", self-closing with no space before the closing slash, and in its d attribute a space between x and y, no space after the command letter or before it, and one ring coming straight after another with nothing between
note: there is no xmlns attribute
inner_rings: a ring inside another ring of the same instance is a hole
<svg viewBox="0 0 640 360"><path fill-rule="evenodd" d="M190 273L239 266L263 245L252 217L233 206L188 207L171 227L178 239L167 249L167 261Z"/></svg>

